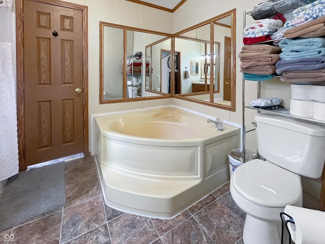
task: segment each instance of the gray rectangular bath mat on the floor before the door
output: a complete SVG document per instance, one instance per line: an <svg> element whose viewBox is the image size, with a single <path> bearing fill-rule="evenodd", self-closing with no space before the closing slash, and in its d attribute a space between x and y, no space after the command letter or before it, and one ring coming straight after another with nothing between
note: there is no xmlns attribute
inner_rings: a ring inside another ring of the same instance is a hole
<svg viewBox="0 0 325 244"><path fill-rule="evenodd" d="M64 188L64 162L10 177L0 194L0 230L64 205Z"/></svg>

